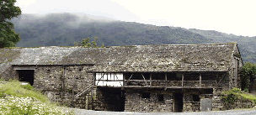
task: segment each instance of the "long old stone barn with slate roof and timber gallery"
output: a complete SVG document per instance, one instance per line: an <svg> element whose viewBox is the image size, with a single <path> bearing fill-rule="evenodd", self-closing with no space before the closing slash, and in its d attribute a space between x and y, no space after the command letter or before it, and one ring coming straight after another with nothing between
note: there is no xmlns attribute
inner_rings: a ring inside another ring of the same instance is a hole
<svg viewBox="0 0 256 115"><path fill-rule="evenodd" d="M102 111L221 110L221 91L241 86L242 65L236 43L0 49L2 79Z"/></svg>

